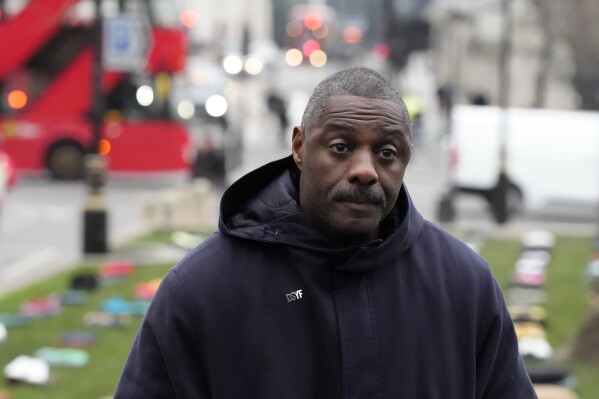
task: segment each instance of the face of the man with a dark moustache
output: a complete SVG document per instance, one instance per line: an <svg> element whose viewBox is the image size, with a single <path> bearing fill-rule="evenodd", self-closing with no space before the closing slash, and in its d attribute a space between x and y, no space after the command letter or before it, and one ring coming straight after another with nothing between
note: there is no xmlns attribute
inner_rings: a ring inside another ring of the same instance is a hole
<svg viewBox="0 0 599 399"><path fill-rule="evenodd" d="M409 121L385 100L334 96L310 131L293 131L300 205L340 244L378 238L411 156Z"/></svg>

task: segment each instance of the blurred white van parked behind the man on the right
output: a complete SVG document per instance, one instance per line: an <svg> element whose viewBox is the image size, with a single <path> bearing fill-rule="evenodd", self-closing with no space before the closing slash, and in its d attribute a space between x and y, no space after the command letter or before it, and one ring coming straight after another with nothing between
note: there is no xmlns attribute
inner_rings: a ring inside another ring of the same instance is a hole
<svg viewBox="0 0 599 399"><path fill-rule="evenodd" d="M497 209L505 143L507 209ZM456 105L449 136L452 194L480 194L498 221L519 208L599 201L599 112Z"/></svg>

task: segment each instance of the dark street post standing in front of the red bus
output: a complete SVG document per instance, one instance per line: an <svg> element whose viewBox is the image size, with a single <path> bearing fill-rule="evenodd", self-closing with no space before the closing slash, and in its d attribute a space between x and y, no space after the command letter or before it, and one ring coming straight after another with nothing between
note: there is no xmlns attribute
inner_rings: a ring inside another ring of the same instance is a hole
<svg viewBox="0 0 599 399"><path fill-rule="evenodd" d="M100 154L104 94L102 90L102 0L94 0L96 16L92 33L94 62L92 66L92 143L85 159L87 198L83 212L83 252L105 253L107 245L107 214L103 188L106 159Z"/></svg>

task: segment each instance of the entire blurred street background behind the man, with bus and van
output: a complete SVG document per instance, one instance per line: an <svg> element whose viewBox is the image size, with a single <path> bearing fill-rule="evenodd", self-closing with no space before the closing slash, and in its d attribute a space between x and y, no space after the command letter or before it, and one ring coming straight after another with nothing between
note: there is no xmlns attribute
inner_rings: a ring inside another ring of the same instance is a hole
<svg viewBox="0 0 599 399"><path fill-rule="evenodd" d="M1 316L56 310L81 270L154 266L93 279L87 306L10 339L4 317L0 354L156 289L217 228L224 190L291 154L315 86L365 66L410 114L416 208L489 263L539 398L594 398L598 19L597 0L0 0ZM94 378L29 390L11 361L0 399L110 396L133 324L94 327Z"/></svg>

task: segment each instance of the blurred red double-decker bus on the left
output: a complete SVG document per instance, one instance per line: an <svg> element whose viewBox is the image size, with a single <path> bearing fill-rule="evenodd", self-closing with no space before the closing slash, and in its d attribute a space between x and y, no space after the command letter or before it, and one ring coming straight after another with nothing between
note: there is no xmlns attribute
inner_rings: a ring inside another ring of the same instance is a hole
<svg viewBox="0 0 599 399"><path fill-rule="evenodd" d="M102 72L100 152L109 172L187 172L186 127L170 117L169 86L186 39L170 0L102 0L105 17L150 22L145 65ZM74 179L94 141L92 0L0 1L0 148L19 172Z"/></svg>

